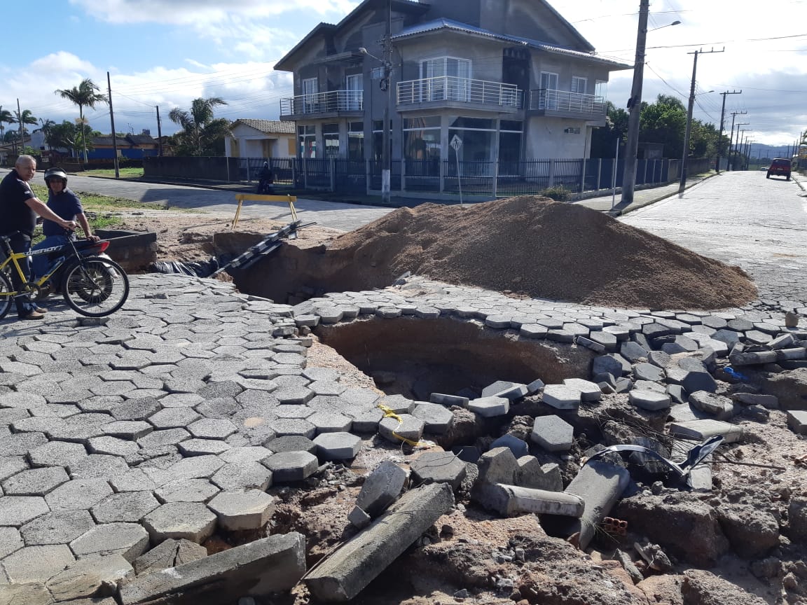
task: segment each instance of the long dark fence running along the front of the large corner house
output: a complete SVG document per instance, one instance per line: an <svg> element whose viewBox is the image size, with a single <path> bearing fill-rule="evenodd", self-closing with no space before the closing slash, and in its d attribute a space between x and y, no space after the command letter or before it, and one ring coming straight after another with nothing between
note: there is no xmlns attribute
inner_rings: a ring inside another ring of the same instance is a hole
<svg viewBox="0 0 807 605"><path fill-rule="evenodd" d="M341 158L158 157L144 158L146 177L193 180L257 181L265 161L276 186L335 193L370 194L381 190L382 164ZM680 177L680 160L639 160L637 186L663 185ZM688 174L708 171L708 158L688 161ZM525 161L397 160L391 162L395 193L509 196L562 189L568 194L621 186L625 161L613 158Z"/></svg>

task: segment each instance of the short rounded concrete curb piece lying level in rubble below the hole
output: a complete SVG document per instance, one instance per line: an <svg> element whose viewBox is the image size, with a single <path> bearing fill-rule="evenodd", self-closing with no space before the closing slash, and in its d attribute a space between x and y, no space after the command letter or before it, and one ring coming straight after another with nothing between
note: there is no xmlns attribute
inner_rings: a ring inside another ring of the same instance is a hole
<svg viewBox="0 0 807 605"><path fill-rule="evenodd" d="M579 518L585 503L575 494L536 490L530 487L485 483L474 490L474 499L489 511L512 517L516 515L563 515Z"/></svg>

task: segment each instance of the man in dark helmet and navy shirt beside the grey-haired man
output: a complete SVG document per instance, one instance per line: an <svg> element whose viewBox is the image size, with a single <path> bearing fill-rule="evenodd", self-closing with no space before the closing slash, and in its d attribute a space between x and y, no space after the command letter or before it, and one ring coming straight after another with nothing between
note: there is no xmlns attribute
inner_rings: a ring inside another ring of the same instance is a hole
<svg viewBox="0 0 807 605"><path fill-rule="evenodd" d="M48 186L48 208L56 212L61 219L74 220L82 227L86 238L98 241L98 236L94 236L90 231L90 223L84 214L82 201L73 191L67 188L67 173L61 168L51 168L45 170L45 184ZM44 219L42 223L42 234L45 239L31 248L31 250L42 250L43 248L54 248L67 244L68 240L76 240L75 232L69 235L65 230L52 220ZM32 273L41 277L48 269L48 255L40 254L33 257L31 267Z"/></svg>

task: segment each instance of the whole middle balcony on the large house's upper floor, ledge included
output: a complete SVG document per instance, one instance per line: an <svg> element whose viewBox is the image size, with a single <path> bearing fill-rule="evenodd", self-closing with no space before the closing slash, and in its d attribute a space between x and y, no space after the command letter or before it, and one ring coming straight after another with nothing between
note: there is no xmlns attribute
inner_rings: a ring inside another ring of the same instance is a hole
<svg viewBox="0 0 807 605"><path fill-rule="evenodd" d="M398 111L450 107L515 113L522 98L523 91L515 84L440 76L399 82L396 100Z"/></svg>

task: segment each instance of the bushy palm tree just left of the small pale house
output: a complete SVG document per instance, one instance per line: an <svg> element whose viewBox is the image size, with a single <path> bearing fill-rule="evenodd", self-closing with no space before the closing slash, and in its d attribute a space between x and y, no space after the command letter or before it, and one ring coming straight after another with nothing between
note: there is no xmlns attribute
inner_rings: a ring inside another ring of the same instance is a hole
<svg viewBox="0 0 807 605"><path fill-rule="evenodd" d="M230 131L230 122L224 118L214 118L213 109L227 105L219 97L194 98L190 111L174 107L169 119L182 127L176 134L177 155L213 156L224 150L224 136Z"/></svg>

